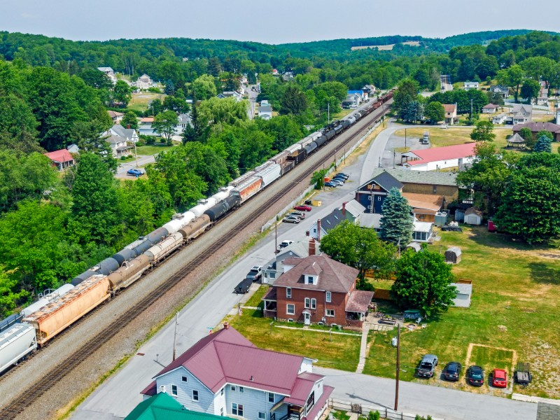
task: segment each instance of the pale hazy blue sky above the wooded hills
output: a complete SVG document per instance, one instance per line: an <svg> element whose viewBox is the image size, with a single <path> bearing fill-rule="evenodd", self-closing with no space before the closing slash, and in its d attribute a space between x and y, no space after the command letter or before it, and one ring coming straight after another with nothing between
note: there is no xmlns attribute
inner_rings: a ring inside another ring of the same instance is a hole
<svg viewBox="0 0 560 420"><path fill-rule="evenodd" d="M558 31L560 1L0 0L0 30L93 41L211 38L289 43L496 29ZM538 5L538 6L537 6Z"/></svg>

